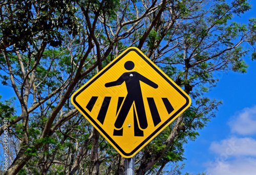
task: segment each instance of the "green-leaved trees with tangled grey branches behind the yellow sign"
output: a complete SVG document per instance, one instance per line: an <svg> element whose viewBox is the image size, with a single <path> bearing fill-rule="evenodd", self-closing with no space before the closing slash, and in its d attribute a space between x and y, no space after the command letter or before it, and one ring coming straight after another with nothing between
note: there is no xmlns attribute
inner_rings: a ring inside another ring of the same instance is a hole
<svg viewBox="0 0 256 175"><path fill-rule="evenodd" d="M70 97L131 46L193 98L136 155L137 174L161 174L166 164L184 159L182 145L215 117L221 102L206 96L218 81L214 73L246 72L249 48L243 46L256 39L254 18L248 25L232 21L250 9L246 0L7 0L0 6L1 78L19 103L16 113L8 108L1 116L1 126L9 118L15 155L5 174L124 173L124 158Z"/></svg>

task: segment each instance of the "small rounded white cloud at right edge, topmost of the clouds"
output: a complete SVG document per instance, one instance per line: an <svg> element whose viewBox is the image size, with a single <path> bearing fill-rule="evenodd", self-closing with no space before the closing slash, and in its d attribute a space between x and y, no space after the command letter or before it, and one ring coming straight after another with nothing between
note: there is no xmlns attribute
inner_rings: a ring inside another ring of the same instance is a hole
<svg viewBox="0 0 256 175"><path fill-rule="evenodd" d="M256 106L244 108L236 117L228 123L231 132L241 135L256 134Z"/></svg>

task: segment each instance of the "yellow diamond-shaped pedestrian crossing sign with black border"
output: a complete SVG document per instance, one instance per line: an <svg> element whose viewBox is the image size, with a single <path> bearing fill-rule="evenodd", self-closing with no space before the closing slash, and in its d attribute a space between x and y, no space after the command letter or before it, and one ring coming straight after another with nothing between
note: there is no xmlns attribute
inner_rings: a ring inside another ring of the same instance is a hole
<svg viewBox="0 0 256 175"><path fill-rule="evenodd" d="M133 47L84 84L71 100L125 158L133 157L191 104L172 79Z"/></svg>

